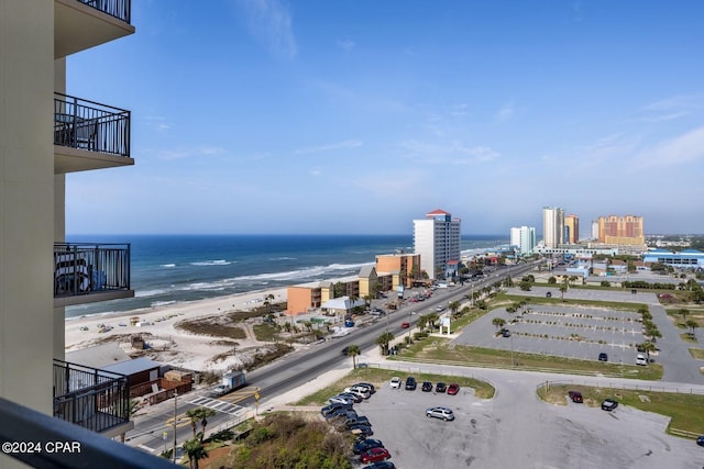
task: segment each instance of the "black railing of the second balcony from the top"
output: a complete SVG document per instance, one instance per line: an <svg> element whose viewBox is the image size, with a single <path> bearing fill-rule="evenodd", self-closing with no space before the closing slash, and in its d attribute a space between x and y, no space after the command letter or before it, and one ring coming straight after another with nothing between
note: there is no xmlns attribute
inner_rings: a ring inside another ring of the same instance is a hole
<svg viewBox="0 0 704 469"><path fill-rule="evenodd" d="M130 111L54 93L54 145L130 156Z"/></svg>

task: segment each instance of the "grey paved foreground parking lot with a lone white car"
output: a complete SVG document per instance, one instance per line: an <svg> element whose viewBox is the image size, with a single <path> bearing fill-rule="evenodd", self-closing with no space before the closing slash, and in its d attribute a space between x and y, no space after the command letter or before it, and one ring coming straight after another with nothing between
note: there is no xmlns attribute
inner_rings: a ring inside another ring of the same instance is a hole
<svg viewBox="0 0 704 469"><path fill-rule="evenodd" d="M406 375L400 375L405 379ZM664 434L667 418L619 406L614 412L536 395L535 377L512 373L494 399L391 389L388 381L355 404L398 468L661 468L704 466L692 440ZM515 378L514 378L515 377ZM565 397L566 400L566 397ZM426 417L452 409L453 422Z"/></svg>

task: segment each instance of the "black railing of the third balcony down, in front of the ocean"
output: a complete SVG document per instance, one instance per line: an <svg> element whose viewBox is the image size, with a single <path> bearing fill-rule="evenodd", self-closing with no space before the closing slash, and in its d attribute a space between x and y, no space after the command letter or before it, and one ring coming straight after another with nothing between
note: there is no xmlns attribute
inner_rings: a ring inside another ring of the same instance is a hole
<svg viewBox="0 0 704 469"><path fill-rule="evenodd" d="M54 298L130 290L129 244L54 244Z"/></svg>

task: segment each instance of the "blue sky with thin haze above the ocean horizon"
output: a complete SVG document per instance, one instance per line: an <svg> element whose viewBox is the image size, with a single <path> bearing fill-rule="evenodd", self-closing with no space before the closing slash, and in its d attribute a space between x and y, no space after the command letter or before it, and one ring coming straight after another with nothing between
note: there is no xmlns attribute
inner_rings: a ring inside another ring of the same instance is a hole
<svg viewBox="0 0 704 469"><path fill-rule="evenodd" d="M67 177L68 233L704 233L704 2L152 0L67 59L135 166ZM106 210L109 208L109 210ZM100 214L97 216L97 214Z"/></svg>

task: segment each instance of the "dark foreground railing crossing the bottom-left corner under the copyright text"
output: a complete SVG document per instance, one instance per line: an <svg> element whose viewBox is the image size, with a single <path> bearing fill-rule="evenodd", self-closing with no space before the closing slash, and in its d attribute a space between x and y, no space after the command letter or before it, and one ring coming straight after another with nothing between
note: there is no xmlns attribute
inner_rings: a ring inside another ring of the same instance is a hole
<svg viewBox="0 0 704 469"><path fill-rule="evenodd" d="M2 454L41 469L174 469L164 458L0 398ZM3 457L0 456L0 465Z"/></svg>

